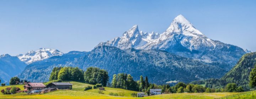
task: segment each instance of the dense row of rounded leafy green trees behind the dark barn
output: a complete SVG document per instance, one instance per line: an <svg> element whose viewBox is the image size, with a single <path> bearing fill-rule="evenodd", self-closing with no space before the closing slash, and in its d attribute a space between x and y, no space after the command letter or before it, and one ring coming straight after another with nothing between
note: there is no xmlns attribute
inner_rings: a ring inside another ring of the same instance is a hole
<svg viewBox="0 0 256 99"><path fill-rule="evenodd" d="M78 67L55 67L50 74L49 80L77 81L92 85L99 83L102 86L107 86L108 78L108 72L104 69L89 67L86 71L83 71Z"/></svg>

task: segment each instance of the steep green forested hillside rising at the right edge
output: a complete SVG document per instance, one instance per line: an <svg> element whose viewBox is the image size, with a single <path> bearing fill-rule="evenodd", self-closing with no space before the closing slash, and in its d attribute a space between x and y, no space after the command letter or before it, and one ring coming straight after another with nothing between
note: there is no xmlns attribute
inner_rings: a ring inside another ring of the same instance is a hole
<svg viewBox="0 0 256 99"><path fill-rule="evenodd" d="M238 63L226 73L221 80L226 83L236 83L244 88L249 88L249 75L251 70L256 65L256 52L247 53L238 61Z"/></svg>

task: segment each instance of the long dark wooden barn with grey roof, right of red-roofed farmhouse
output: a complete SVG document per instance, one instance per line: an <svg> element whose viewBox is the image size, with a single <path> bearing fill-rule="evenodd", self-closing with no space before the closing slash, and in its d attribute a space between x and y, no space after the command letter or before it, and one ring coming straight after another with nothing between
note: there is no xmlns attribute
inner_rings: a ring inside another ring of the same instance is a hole
<svg viewBox="0 0 256 99"><path fill-rule="evenodd" d="M72 89L72 84L69 82L52 82L47 85L47 88Z"/></svg>

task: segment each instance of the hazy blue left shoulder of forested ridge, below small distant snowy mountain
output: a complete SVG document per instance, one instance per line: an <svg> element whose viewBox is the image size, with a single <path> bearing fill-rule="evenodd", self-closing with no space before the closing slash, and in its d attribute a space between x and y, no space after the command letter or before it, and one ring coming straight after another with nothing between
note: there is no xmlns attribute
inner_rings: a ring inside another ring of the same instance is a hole
<svg viewBox="0 0 256 99"><path fill-rule="evenodd" d="M26 66L18 77L30 82L47 82L54 67L78 66L79 58L84 57L87 52L71 51L62 56L53 56Z"/></svg>

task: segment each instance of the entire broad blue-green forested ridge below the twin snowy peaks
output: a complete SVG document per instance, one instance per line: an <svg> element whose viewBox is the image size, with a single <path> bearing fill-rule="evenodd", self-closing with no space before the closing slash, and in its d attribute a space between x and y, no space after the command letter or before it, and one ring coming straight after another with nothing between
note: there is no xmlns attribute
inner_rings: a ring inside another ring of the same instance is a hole
<svg viewBox="0 0 256 99"><path fill-rule="evenodd" d="M98 46L91 52L72 58L70 55L63 54L63 56L32 63L19 77L32 82L46 82L55 66L78 66L83 70L90 66L96 66L107 70L110 80L113 74L128 73L135 80L139 80L139 76L143 75L148 76L151 82L158 84L170 81L190 82L204 78L219 78L226 72L216 66L206 65L166 51L136 50L134 48L121 50L112 46Z"/></svg>

